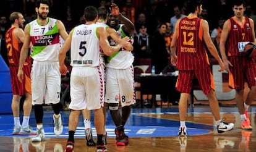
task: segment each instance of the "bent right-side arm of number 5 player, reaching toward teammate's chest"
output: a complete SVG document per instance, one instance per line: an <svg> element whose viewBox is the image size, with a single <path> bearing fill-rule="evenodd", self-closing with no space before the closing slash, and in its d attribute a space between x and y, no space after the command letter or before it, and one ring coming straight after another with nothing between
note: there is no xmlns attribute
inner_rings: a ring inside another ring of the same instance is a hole
<svg viewBox="0 0 256 152"><path fill-rule="evenodd" d="M100 39L101 49L103 49L106 56L111 56L113 53L116 53L116 51L119 51L119 49L121 49L124 45L129 43L129 38L125 37L122 38L116 46L110 46L107 37L108 33L106 32L105 28L98 27L97 33Z"/></svg>

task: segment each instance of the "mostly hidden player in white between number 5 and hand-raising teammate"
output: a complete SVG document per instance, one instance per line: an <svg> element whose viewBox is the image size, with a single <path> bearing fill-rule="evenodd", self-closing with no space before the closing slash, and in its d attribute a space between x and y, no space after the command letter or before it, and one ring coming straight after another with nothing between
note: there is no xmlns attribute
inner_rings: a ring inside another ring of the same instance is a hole
<svg viewBox="0 0 256 152"><path fill-rule="evenodd" d="M113 38L113 40L115 41L119 41L119 39L121 38L121 36L119 36L116 32L116 30L114 30L114 28L108 27L108 25L106 25L107 17L108 17L109 13L108 13L108 9L106 9L106 7L99 7L98 8L98 20L96 22L96 25L99 25L100 27L105 27L106 32L108 33L108 37L110 36L111 38ZM132 46L132 44L127 44L126 46L124 46L124 48L126 48L127 51L132 51L134 48ZM103 63L105 64L105 62ZM105 67L105 66L104 66ZM105 77L105 83L106 83L106 77ZM105 143L105 145L107 144L107 133L106 133L106 109L103 108L103 113L104 113L104 117L105 117L105 124L104 124L104 132L103 132L103 142ZM82 111L83 113L83 123L85 125L85 138L87 140L87 146L95 146L96 143L93 140L93 136L92 136L92 128L91 128L91 111L88 111L87 109L84 109Z"/></svg>

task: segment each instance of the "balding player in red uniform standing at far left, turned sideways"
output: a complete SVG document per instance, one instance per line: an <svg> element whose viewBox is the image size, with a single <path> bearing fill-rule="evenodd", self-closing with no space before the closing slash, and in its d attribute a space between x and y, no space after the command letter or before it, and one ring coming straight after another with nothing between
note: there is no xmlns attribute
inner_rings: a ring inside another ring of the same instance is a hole
<svg viewBox="0 0 256 152"><path fill-rule="evenodd" d="M6 32L6 46L9 60L9 69L12 84L12 113L14 116L13 135L36 135L36 132L28 126L32 109L31 80L30 80L30 57L27 56L23 65L24 79L19 82L17 74L19 70L20 50L24 41L22 30L25 19L20 12L12 12L10 15L11 28ZM23 103L23 120L20 124L20 99L25 95Z"/></svg>

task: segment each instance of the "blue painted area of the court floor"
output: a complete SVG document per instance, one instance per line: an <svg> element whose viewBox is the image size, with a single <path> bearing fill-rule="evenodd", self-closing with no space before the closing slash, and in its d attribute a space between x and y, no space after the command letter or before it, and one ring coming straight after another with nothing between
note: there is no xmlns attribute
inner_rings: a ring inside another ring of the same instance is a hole
<svg viewBox="0 0 256 152"><path fill-rule="evenodd" d="M49 110L51 108L46 108L44 111L43 126L45 129L46 137L54 137L53 132L53 111ZM189 109L188 112L194 112L194 109ZM197 111L197 112L206 112L207 111ZM30 117L30 125L35 129L36 122L35 116L32 111ZM58 138L68 137L68 120L69 120L69 111L62 111L62 123L64 125L64 131L62 135ZM125 132L129 137L171 137L177 136L177 131L179 127L179 121L171 119L162 119L159 116L165 115L178 115L177 108L150 108L150 109L132 109L132 113L127 121ZM93 112L92 112L93 117ZM171 117L171 116L170 116ZM22 117L20 118L22 119ZM12 135L13 129L13 117L12 114L1 114L0 115L0 136L2 137L14 137ZM79 127L75 133L75 137L85 137L83 129L83 118L82 114L80 116ZM96 130L93 125L93 136L96 137ZM187 122L187 132L189 135L202 135L205 133L210 133L213 130L213 125L197 124L194 122ZM114 124L109 111L107 111L107 121L106 121L106 131L108 137L115 137L114 134ZM15 137L24 137L21 135L15 135Z"/></svg>

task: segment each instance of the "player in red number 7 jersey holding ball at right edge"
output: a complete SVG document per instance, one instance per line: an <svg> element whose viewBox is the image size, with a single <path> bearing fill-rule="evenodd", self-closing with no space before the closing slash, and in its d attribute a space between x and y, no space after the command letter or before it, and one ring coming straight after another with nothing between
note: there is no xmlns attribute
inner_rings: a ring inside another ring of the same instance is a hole
<svg viewBox="0 0 256 152"><path fill-rule="evenodd" d="M220 38L221 57L224 69L229 72L229 87L236 90L236 104L241 117L241 127L252 130L247 111L256 97L255 57L247 58L244 46L255 43L254 20L244 17L245 2L236 0L233 5L234 16L226 20ZM244 99L245 80L249 93Z"/></svg>

